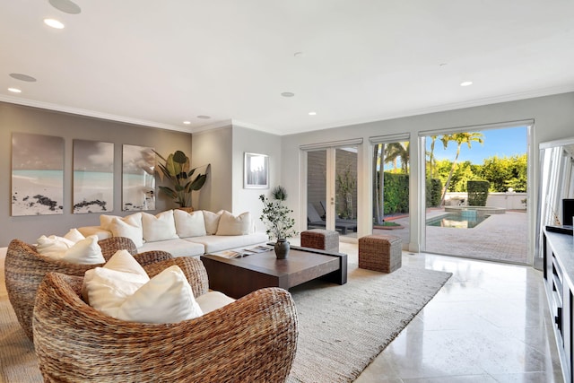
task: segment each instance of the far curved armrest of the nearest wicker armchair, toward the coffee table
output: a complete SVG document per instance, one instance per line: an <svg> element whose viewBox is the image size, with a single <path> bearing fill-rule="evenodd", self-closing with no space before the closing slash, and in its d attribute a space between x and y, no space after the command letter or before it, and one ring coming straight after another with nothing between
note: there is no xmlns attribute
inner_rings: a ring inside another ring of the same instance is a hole
<svg viewBox="0 0 574 383"><path fill-rule="evenodd" d="M143 269L152 278L172 265L178 265L181 271L186 274L187 282L191 285L194 296L204 295L209 290L209 280L204 263L196 257L171 257L150 265L143 265Z"/></svg>

